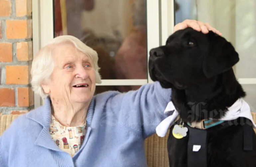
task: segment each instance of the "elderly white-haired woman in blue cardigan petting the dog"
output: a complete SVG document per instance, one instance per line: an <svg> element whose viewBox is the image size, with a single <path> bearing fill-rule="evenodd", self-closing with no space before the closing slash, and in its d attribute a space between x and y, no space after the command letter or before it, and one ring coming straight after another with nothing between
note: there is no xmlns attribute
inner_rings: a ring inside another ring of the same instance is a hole
<svg viewBox="0 0 256 167"><path fill-rule="evenodd" d="M175 30L187 26L213 29L189 20ZM1 167L147 166L144 140L168 116L171 90L155 82L94 96L101 82L97 60L73 36L56 37L39 51L31 84L44 105L19 116L1 136Z"/></svg>

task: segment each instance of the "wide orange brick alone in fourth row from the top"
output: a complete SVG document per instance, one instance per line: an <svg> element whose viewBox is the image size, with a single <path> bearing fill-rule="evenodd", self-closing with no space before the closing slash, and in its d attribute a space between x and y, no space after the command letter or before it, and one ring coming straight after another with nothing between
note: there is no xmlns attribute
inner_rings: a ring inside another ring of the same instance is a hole
<svg viewBox="0 0 256 167"><path fill-rule="evenodd" d="M6 84L29 84L29 67L27 65L6 66Z"/></svg>

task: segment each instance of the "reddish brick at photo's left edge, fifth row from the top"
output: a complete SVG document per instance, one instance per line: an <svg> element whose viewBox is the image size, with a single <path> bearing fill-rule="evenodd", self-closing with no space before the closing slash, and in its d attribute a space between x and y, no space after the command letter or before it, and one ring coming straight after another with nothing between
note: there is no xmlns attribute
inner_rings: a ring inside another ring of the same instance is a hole
<svg viewBox="0 0 256 167"><path fill-rule="evenodd" d="M15 106L15 91L9 88L0 88L0 106Z"/></svg>

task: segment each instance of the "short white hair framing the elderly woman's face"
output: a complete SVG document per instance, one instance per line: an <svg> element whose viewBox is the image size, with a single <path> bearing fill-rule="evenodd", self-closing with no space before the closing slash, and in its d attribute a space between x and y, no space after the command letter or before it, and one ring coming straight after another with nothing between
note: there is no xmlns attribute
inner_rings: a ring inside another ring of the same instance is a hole
<svg viewBox="0 0 256 167"><path fill-rule="evenodd" d="M34 56L31 67L31 85L36 94L39 94L42 98L47 97L42 85L50 80L50 77L54 70L54 49L58 44L70 42L76 49L86 54L91 60L95 70L96 83L101 83L101 77L99 74L98 66L98 54L92 48L85 45L78 38L71 35L62 35L54 38L50 43L43 47L36 56Z"/></svg>

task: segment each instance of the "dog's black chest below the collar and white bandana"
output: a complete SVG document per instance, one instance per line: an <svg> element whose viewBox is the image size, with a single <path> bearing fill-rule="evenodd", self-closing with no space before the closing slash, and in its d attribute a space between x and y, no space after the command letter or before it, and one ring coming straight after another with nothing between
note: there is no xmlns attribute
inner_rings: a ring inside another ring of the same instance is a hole
<svg viewBox="0 0 256 167"><path fill-rule="evenodd" d="M168 137L170 167L190 167L192 163L199 165L206 164L205 167L243 167L246 166L246 163L244 163L245 160L247 160L247 162L253 161L250 153L245 154L242 150L242 127L230 126L219 131L211 129L194 132L193 130L195 128L191 130L191 128L187 126L189 128L188 135L181 139L177 139L173 136L173 127L174 126L170 129ZM217 126L215 129L217 129ZM202 133L202 131L207 132L207 136L205 136L206 133ZM194 134L190 135L190 133ZM190 138L199 141L193 141ZM199 150L198 147L195 148L194 145L200 145Z"/></svg>

